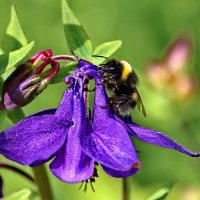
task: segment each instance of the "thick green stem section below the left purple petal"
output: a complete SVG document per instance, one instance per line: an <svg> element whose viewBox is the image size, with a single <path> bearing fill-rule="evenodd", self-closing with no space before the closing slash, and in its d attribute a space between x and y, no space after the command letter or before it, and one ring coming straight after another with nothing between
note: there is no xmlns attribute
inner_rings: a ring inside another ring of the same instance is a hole
<svg viewBox="0 0 200 200"><path fill-rule="evenodd" d="M44 165L33 167L35 182L42 200L54 200L49 178Z"/></svg>

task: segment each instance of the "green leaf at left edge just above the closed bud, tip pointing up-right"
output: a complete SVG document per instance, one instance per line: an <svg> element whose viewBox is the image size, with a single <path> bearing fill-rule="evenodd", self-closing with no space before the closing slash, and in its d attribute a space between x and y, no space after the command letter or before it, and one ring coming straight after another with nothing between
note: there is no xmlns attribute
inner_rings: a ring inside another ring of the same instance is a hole
<svg viewBox="0 0 200 200"><path fill-rule="evenodd" d="M9 69L18 64L27 56L27 54L33 48L33 45L34 42L31 42L16 51L0 55L0 74L2 75L4 73L2 76L3 78L8 76Z"/></svg>

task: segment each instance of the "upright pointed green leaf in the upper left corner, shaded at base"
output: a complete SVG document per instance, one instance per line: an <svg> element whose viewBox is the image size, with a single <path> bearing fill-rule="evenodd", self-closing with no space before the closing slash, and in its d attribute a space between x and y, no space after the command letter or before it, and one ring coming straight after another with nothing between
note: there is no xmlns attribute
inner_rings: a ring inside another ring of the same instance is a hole
<svg viewBox="0 0 200 200"><path fill-rule="evenodd" d="M27 45L27 39L19 23L15 7L12 6L10 23L0 43L0 54L15 51L25 45Z"/></svg>

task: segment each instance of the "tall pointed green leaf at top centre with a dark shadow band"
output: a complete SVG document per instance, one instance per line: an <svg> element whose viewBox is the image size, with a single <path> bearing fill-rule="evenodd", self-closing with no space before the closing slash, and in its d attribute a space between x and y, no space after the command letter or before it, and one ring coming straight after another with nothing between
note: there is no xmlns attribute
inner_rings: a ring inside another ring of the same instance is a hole
<svg viewBox="0 0 200 200"><path fill-rule="evenodd" d="M62 17L65 37L69 49L82 59L92 56L92 43L79 21L70 10L67 2L62 0Z"/></svg>

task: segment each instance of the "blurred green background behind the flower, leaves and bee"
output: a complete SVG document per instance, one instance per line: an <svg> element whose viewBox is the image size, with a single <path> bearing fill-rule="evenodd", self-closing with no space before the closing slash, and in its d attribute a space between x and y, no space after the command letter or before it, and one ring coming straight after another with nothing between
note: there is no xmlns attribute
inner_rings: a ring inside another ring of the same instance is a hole
<svg viewBox="0 0 200 200"><path fill-rule="evenodd" d="M53 49L54 54L69 53L62 29L60 0L0 0L0 40L10 19L10 8L14 2L19 20L29 41L34 40L35 53ZM122 48L115 58L129 61L140 75L139 89L145 104L147 118L137 110L134 121L143 126L160 130L194 150L200 150L200 106L198 87L193 98L184 103L173 102L165 91L151 87L144 74L153 58L160 59L167 46L180 34L193 40L193 52L187 71L199 82L200 57L200 2L198 0L68 0L68 3L89 34L94 46L120 39ZM39 97L24 108L31 114L46 108L56 107L61 99L64 84L49 86ZM9 122L8 122L9 125ZM158 188L175 183L168 200L200 199L200 160L190 158L173 150L161 149L134 140L141 171L130 178L132 200L146 199ZM1 160L7 161L1 157ZM21 166L20 166L21 167ZM23 169L31 173L31 169ZM79 184L70 185L49 174L58 200L119 200L120 179L107 176L100 170L93 193L79 191ZM1 170L4 193L8 194L24 187L34 186L13 172Z"/></svg>

